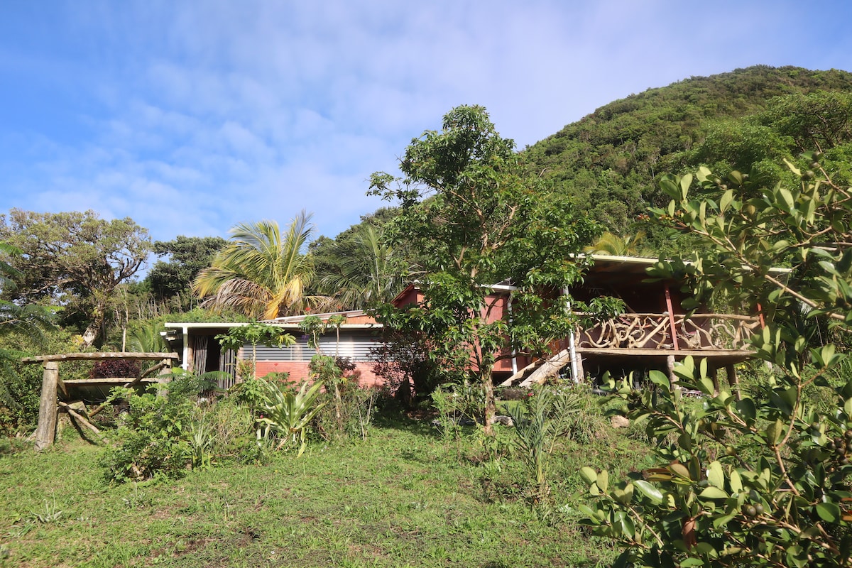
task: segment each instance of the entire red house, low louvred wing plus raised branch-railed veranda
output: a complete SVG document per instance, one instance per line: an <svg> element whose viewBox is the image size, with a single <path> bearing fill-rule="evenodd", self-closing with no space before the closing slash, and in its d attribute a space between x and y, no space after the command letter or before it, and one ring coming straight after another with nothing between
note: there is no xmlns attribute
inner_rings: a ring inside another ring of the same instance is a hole
<svg viewBox="0 0 852 568"><path fill-rule="evenodd" d="M708 370L726 370L728 380L736 382L735 364L751 359L754 353L749 337L760 330L760 314L709 313L695 310L690 316L681 307L684 296L682 282L676 279L651 282L648 267L657 259L630 256L590 255L593 261L584 274L583 283L569 291L570 297L590 301L600 296L613 296L625 303L625 312L584 329L573 336L555 341L550 346L550 359L536 359L521 353L503 353L494 364L495 382L503 385L540 382L547 376L562 373L580 382L586 376L599 377L609 371L625 376L631 371L645 373L663 370L672 376L676 361L687 356L705 359ZM786 269L774 269L786 273ZM512 310L512 291L508 284L495 284L487 297L491 319L508 318ZM423 300L423 293L412 284L394 299L404 307ZM334 330L320 338L320 349L327 355L345 357L355 364L360 383L374 386L380 382L372 369L372 350L382 345L382 324L363 311L315 314L324 320L343 315L339 336ZM278 325L296 337L291 347L256 346L256 376L269 372L287 372L291 380L309 376L308 364L316 351L308 347L308 337L299 324L307 316L276 318L266 323ZM181 366L195 372L224 370L230 378L221 387L236 381L237 361L250 359L251 346L239 353L222 352L216 335L227 333L238 323L168 323L170 342L181 353Z"/></svg>

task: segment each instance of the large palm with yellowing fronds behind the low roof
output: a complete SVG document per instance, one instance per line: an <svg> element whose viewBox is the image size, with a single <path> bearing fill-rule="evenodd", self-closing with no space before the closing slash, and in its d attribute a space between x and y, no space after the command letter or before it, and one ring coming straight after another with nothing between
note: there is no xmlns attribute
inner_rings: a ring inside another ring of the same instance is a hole
<svg viewBox="0 0 852 568"><path fill-rule="evenodd" d="M302 211L284 235L275 221L233 227L230 242L193 281L193 291L205 298L202 307L273 319L324 301L304 294L314 276L314 264L305 254L313 230L310 220Z"/></svg>

